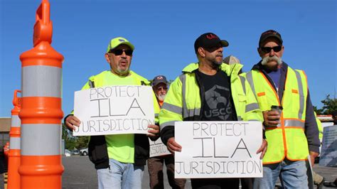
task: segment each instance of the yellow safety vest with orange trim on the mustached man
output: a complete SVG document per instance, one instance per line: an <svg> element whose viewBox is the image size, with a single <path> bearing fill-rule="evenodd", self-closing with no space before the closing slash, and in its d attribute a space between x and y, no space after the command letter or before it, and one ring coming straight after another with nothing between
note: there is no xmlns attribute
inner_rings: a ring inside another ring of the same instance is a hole
<svg viewBox="0 0 337 189"><path fill-rule="evenodd" d="M283 107L281 124L277 127L265 128L268 149L263 163L278 163L284 158L291 161L306 160L309 148L304 134L304 122L308 85L304 72L288 67L282 102L279 102L277 91L260 70L251 70L245 74L245 77L262 112L270 110L272 105Z"/></svg>

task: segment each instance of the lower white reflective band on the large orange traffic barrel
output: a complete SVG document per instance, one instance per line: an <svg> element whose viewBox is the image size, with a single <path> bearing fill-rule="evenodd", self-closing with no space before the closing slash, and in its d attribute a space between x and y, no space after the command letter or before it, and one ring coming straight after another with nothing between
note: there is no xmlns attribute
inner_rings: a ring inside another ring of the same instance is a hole
<svg viewBox="0 0 337 189"><path fill-rule="evenodd" d="M22 124L22 156L55 156L60 155L60 124Z"/></svg>

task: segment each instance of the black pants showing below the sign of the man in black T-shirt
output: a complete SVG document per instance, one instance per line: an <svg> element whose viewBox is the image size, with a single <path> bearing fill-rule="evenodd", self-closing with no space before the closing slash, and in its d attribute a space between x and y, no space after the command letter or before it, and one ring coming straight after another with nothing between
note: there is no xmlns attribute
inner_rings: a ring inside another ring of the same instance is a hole
<svg viewBox="0 0 337 189"><path fill-rule="evenodd" d="M239 183L240 178L191 178L193 189L238 189Z"/></svg>

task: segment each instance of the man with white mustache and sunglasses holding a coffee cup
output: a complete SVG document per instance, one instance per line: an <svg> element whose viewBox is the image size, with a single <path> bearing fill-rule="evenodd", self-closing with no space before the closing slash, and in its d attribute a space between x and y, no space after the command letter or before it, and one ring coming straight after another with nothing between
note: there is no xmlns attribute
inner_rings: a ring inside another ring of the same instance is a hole
<svg viewBox="0 0 337 189"><path fill-rule="evenodd" d="M277 31L262 33L257 48L262 60L244 74L263 112L268 141L264 177L255 178L254 188L274 188L278 177L285 188L308 188L307 157L310 154L314 165L319 154L319 131L306 75L282 61L282 44Z"/></svg>

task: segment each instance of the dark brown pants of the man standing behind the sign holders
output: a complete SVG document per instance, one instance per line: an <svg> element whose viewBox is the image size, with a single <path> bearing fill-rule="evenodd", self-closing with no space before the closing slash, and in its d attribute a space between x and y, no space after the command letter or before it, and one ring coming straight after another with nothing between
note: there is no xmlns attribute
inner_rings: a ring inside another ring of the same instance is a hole
<svg viewBox="0 0 337 189"><path fill-rule="evenodd" d="M185 188L186 179L174 178L174 156L157 156L147 160L150 175L150 188L164 188L163 167L166 165L166 173L172 188Z"/></svg>

